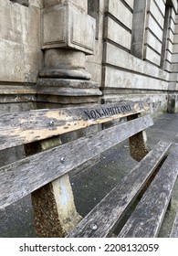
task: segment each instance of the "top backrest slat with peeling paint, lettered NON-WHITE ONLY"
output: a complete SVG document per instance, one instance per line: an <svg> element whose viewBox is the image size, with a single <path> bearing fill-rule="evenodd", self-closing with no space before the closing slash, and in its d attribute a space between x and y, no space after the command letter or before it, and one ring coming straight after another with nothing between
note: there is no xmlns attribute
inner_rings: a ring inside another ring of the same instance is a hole
<svg viewBox="0 0 178 256"><path fill-rule="evenodd" d="M142 101L0 115L0 150L148 110Z"/></svg>

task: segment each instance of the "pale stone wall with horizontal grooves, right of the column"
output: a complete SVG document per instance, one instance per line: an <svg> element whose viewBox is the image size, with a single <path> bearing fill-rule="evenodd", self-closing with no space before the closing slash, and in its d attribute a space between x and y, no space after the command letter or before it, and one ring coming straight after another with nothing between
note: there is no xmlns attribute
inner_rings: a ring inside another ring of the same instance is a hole
<svg viewBox="0 0 178 256"><path fill-rule="evenodd" d="M165 4L163 0L137 0L134 5L133 1L109 0L105 14L104 101L144 99L151 103L152 112L167 110L177 2L173 6ZM170 12L164 39L165 8Z"/></svg>

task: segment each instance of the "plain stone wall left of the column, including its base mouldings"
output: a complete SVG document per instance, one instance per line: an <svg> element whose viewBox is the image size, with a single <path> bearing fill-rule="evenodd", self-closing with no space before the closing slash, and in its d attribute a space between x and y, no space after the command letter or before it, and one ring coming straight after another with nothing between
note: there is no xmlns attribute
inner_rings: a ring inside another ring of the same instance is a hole
<svg viewBox="0 0 178 256"><path fill-rule="evenodd" d="M25 2L0 1L0 112L36 108L42 1Z"/></svg>

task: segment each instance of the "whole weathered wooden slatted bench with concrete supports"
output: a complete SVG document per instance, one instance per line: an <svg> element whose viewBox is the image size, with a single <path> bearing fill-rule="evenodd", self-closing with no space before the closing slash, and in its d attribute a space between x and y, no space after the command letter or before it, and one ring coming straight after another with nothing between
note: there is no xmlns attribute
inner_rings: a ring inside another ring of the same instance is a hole
<svg viewBox="0 0 178 256"><path fill-rule="evenodd" d="M143 133L152 116L141 115L148 110L138 101L1 114L0 151L23 145L26 158L0 168L0 209L31 193L37 236L109 237L143 194L119 237L156 237L177 177L178 145L170 151L171 144L159 142L148 151ZM66 144L58 137L120 118L127 122L108 129L98 125L99 131ZM128 138L131 156L140 162L81 219L68 174Z"/></svg>

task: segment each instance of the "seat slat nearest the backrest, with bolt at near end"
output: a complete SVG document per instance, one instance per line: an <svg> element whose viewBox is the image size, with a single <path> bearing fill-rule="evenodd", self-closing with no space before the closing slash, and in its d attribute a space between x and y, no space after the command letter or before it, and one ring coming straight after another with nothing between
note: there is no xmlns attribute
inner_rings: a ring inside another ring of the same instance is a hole
<svg viewBox="0 0 178 256"><path fill-rule="evenodd" d="M128 176L111 190L110 194L91 210L68 237L107 237L120 222L131 202L138 196L170 144L160 142L133 168Z"/></svg>

